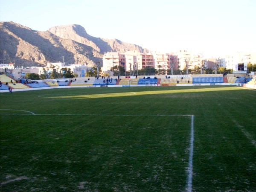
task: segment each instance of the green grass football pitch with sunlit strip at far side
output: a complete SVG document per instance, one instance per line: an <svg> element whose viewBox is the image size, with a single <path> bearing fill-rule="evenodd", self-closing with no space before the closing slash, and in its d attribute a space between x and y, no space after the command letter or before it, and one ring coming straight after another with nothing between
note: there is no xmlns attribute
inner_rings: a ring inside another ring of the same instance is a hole
<svg viewBox="0 0 256 192"><path fill-rule="evenodd" d="M256 191L255 101L227 86L0 93L0 191Z"/></svg>

